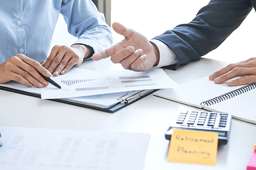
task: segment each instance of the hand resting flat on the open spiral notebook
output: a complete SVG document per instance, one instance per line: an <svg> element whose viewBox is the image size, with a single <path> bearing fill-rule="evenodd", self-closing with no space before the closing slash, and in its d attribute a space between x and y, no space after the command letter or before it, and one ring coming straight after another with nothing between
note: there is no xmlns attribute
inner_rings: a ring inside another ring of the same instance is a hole
<svg viewBox="0 0 256 170"><path fill-rule="evenodd" d="M241 76L241 78L230 80ZM216 71L209 76L215 83L223 83L226 80L228 86L238 86L256 82L256 58L250 58L246 61L230 64L223 69Z"/></svg>

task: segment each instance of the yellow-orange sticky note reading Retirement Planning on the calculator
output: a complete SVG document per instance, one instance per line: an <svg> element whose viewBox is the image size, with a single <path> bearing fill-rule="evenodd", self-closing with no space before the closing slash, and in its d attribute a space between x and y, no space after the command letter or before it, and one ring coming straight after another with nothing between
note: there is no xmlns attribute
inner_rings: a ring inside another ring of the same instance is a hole
<svg viewBox="0 0 256 170"><path fill-rule="evenodd" d="M215 165L218 133L174 130L168 153L169 162Z"/></svg>

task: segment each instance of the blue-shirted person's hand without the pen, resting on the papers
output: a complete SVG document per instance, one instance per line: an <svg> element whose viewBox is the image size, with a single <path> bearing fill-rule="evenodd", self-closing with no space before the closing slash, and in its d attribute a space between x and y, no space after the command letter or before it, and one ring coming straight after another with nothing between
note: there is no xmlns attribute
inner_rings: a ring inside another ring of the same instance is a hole
<svg viewBox="0 0 256 170"><path fill-rule="evenodd" d="M75 44L71 47L55 45L49 57L41 64L54 76L58 76L67 73L74 65L80 65L89 54L89 48L84 45Z"/></svg>

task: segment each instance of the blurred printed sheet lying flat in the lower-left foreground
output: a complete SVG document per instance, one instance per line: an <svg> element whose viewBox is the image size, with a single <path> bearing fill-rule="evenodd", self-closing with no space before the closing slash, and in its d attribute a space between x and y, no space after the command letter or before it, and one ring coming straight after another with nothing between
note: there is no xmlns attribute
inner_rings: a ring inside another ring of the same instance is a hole
<svg viewBox="0 0 256 170"><path fill-rule="evenodd" d="M150 134L0 127L1 170L142 170Z"/></svg>

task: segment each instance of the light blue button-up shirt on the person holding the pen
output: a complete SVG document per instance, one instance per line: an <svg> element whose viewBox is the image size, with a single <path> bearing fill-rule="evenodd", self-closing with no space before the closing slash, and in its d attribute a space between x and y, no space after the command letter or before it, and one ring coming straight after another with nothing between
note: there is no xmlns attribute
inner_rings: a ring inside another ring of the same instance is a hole
<svg viewBox="0 0 256 170"><path fill-rule="evenodd" d="M94 52L112 45L110 27L91 0L2 0L0 63L19 53L39 62L46 59L59 14L78 38L74 44L89 45Z"/></svg>

